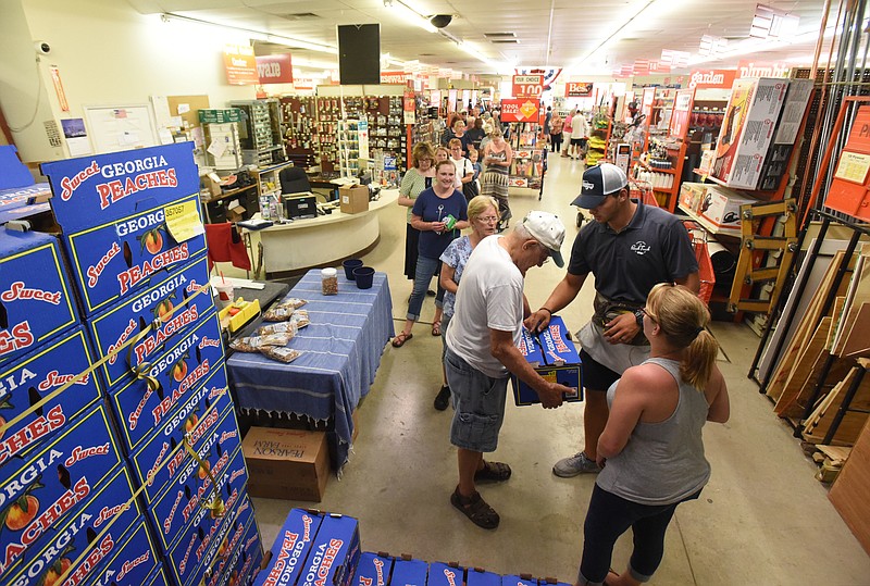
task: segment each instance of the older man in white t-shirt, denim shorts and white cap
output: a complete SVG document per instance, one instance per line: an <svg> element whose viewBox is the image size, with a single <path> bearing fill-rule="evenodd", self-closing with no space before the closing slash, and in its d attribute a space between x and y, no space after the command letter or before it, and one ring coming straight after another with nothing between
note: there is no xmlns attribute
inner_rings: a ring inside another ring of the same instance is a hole
<svg viewBox="0 0 870 586"><path fill-rule="evenodd" d="M456 409L450 442L458 448L459 463L459 485L450 502L483 528L496 528L499 516L481 498L476 483L504 482L511 474L507 464L483 459L483 452L498 445L509 375L535 389L545 409L559 407L564 394L573 392L542 378L517 347L527 313L525 273L550 258L564 266L563 240L564 225L557 216L530 212L509 234L481 240L456 294L444 358Z"/></svg>

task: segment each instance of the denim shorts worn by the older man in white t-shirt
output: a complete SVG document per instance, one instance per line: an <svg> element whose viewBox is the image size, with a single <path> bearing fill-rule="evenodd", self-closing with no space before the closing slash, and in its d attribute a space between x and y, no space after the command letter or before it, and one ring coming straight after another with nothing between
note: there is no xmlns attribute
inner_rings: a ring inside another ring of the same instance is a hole
<svg viewBox="0 0 870 586"><path fill-rule="evenodd" d="M508 377L490 378L449 348L444 367L456 409L450 424L450 444L471 451L495 451L505 420Z"/></svg>

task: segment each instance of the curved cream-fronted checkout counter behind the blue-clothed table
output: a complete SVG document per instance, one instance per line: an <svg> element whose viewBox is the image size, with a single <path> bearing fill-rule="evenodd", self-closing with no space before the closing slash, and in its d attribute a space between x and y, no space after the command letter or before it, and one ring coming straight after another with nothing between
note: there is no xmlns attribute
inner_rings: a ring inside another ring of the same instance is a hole
<svg viewBox="0 0 870 586"><path fill-rule="evenodd" d="M398 189L382 189L378 199L370 201L363 212L349 214L336 208L326 215L256 230L263 245L266 278L334 264L369 249L381 237L377 212L396 205L398 198Z"/></svg>

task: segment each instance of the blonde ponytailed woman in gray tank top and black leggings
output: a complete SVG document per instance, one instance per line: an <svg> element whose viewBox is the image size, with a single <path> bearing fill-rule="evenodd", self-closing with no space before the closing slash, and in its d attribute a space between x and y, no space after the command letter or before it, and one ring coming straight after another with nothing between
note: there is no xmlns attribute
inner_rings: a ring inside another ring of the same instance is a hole
<svg viewBox="0 0 870 586"><path fill-rule="evenodd" d="M705 329L710 313L689 289L656 285L644 308L649 359L607 391L610 416L598 440L598 474L586 513L577 584L648 582L664 553L676 506L696 499L710 477L701 428L724 423L728 388L719 346ZM613 544L631 527L634 550L621 575L610 572ZM606 582L605 582L606 579Z"/></svg>

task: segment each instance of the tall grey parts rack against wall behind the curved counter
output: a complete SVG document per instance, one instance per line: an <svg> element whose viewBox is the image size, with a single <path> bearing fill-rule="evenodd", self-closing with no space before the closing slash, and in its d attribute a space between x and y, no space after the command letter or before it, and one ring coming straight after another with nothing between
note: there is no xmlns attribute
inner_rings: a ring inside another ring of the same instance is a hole
<svg viewBox="0 0 870 586"><path fill-rule="evenodd" d="M278 100L249 100L229 102L243 111L239 123L239 142L246 164L268 166L287 160L284 153Z"/></svg>

